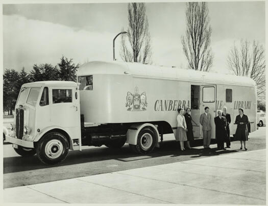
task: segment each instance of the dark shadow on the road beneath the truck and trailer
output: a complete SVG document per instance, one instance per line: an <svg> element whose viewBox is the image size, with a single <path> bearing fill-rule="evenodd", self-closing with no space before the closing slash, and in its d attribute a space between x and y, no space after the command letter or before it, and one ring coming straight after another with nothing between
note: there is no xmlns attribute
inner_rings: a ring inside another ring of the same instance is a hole
<svg viewBox="0 0 268 206"><path fill-rule="evenodd" d="M212 144L215 143L212 140ZM195 140L192 146L201 146L202 140ZM44 165L36 155L32 157L7 157L4 158L4 174L18 171L27 171L42 168L53 168L66 165L74 165L80 163L100 162L105 160L118 160L120 162L132 162L136 160L152 159L162 156L178 157L189 156L190 158L197 158L202 156L214 156L220 154L228 154L237 152L236 150L215 151L215 149L191 149L180 151L179 145L175 141L165 141L161 143L161 148L155 148L154 152L150 154L140 155L132 152L126 144L119 150L112 150L109 148L93 148L80 151L70 151L67 158L62 164ZM187 157L189 160L189 157ZM182 159L181 161L184 161Z"/></svg>

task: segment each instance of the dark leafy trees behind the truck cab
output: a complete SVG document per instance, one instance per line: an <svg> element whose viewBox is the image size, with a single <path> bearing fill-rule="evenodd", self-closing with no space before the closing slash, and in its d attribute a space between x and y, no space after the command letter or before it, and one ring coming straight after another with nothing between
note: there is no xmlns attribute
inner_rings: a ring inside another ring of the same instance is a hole
<svg viewBox="0 0 268 206"><path fill-rule="evenodd" d="M3 109L13 115L20 87L24 83L35 81L76 81L76 72L79 64L74 64L72 58L62 56L57 66L52 64L34 64L33 69L27 73L22 67L20 72L6 69L3 75Z"/></svg>

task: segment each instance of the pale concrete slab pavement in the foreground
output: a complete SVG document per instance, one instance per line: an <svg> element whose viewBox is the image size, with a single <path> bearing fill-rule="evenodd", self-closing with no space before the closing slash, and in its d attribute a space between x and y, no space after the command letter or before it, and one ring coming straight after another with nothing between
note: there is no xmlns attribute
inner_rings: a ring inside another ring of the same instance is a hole
<svg viewBox="0 0 268 206"><path fill-rule="evenodd" d="M266 204L265 153L240 152L8 188L4 202Z"/></svg>

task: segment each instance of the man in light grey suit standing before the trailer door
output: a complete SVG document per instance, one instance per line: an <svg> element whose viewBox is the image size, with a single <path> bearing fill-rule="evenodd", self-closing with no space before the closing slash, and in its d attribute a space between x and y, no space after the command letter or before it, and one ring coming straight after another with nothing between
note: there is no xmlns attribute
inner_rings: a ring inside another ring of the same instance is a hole
<svg viewBox="0 0 268 206"><path fill-rule="evenodd" d="M201 114L200 116L200 124L202 125L202 131L203 131L203 145L204 149L210 149L210 138L211 138L211 114L208 113L209 108L205 107L205 113Z"/></svg>

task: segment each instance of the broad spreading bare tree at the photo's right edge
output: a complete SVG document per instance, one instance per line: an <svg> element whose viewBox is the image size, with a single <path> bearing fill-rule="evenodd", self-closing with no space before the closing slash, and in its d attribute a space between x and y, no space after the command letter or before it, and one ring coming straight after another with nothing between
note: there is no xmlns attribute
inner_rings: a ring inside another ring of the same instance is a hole
<svg viewBox="0 0 268 206"><path fill-rule="evenodd" d="M240 49L234 43L227 64L235 75L248 76L256 82L258 98L265 95L265 51L262 45L253 41L251 52L249 41L241 40Z"/></svg>

